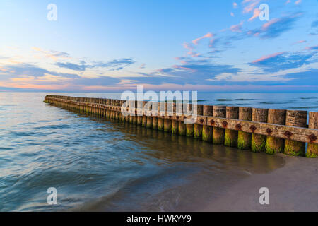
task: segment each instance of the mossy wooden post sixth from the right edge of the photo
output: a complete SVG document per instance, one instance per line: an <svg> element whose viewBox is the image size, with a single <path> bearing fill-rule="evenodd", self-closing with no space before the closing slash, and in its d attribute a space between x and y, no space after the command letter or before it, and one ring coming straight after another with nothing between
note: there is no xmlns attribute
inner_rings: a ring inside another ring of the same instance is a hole
<svg viewBox="0 0 318 226"><path fill-rule="evenodd" d="M238 119L238 107L226 107L226 118ZM237 147L237 131L225 129L224 145L228 147Z"/></svg>

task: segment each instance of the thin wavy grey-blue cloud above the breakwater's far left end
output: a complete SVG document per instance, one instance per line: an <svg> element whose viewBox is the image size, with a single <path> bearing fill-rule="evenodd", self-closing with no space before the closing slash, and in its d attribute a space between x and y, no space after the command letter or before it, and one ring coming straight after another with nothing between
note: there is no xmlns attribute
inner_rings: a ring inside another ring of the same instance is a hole
<svg viewBox="0 0 318 226"><path fill-rule="evenodd" d="M107 68L108 71L119 71L124 69L124 67L134 64L134 59L131 58L122 58L122 59L114 59L107 63L103 62L95 62L93 64L87 64L85 61L80 61L80 64L73 64L73 63L62 63L57 62L57 66L65 69L71 69L74 71L86 71L86 69L93 69L93 68Z"/></svg>

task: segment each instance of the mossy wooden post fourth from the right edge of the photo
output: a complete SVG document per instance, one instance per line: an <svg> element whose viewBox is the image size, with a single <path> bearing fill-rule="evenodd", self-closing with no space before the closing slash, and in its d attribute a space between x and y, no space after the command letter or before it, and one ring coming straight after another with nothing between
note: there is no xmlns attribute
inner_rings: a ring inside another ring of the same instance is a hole
<svg viewBox="0 0 318 226"><path fill-rule="evenodd" d="M252 109L252 121L267 122L267 114L269 109L264 108L253 108ZM252 129L252 152L264 152L266 145L266 136L256 134Z"/></svg>

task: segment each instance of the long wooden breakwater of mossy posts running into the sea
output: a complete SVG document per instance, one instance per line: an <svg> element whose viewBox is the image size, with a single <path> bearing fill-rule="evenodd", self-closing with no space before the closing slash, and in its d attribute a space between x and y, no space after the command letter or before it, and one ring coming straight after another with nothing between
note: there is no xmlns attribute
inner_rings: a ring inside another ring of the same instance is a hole
<svg viewBox="0 0 318 226"><path fill-rule="evenodd" d="M318 157L318 112L309 112L307 125L307 111L145 101L124 105L126 100L58 95L47 95L45 102L242 150ZM194 107L195 113L183 113ZM194 123L184 123L194 114Z"/></svg>

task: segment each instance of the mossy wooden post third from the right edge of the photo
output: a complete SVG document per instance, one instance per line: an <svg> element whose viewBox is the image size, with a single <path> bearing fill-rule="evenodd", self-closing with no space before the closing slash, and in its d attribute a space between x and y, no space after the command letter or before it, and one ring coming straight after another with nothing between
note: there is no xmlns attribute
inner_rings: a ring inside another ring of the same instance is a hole
<svg viewBox="0 0 318 226"><path fill-rule="evenodd" d="M280 109L269 109L269 113L267 116L267 122L271 124L284 125L286 119L286 110ZM269 135L271 135L271 129L266 131ZM281 138L276 138L273 136L267 136L265 152L269 155L273 155L274 153L281 153L284 150L285 140Z"/></svg>

